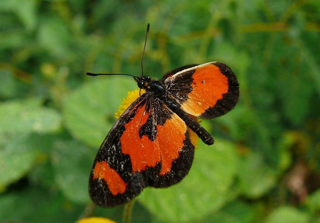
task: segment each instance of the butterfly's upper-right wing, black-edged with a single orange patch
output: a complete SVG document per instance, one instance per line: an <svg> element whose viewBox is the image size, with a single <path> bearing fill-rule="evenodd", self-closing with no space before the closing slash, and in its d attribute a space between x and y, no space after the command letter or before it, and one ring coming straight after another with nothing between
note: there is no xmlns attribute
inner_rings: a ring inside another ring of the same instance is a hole
<svg viewBox="0 0 320 223"><path fill-rule="evenodd" d="M227 113L239 98L235 74L220 62L189 67L169 76L164 83L183 111L203 119Z"/></svg>

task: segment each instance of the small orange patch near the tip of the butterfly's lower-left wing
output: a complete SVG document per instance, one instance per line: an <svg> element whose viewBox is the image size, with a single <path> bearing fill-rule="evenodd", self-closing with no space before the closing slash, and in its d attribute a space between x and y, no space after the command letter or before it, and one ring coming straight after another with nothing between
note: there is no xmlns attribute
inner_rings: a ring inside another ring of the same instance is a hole
<svg viewBox="0 0 320 223"><path fill-rule="evenodd" d="M120 175L112 169L106 161L97 162L94 166L93 180L101 178L103 179L112 195L123 194L127 183L125 183Z"/></svg>

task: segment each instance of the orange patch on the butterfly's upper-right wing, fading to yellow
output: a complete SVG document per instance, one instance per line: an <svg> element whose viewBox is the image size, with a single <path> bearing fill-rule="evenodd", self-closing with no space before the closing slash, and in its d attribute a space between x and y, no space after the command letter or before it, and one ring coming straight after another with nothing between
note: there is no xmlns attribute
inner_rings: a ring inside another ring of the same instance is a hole
<svg viewBox="0 0 320 223"><path fill-rule="evenodd" d="M188 94L188 100L181 105L181 109L191 115L200 116L228 93L228 78L215 65L197 68L192 79L192 91Z"/></svg>

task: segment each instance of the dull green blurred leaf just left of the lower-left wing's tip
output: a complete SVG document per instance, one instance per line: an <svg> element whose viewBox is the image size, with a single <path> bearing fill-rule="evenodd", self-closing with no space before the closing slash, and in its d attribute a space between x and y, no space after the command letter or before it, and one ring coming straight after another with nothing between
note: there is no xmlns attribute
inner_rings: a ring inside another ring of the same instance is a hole
<svg viewBox="0 0 320 223"><path fill-rule="evenodd" d="M90 201L88 179L94 155L95 151L75 140L56 142L51 156L54 179L70 200L78 203Z"/></svg>

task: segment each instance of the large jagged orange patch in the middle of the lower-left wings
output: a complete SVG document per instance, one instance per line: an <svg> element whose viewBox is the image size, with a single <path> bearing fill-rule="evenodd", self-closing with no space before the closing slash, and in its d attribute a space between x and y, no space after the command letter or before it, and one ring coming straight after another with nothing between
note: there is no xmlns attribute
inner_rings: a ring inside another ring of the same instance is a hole
<svg viewBox="0 0 320 223"><path fill-rule="evenodd" d="M133 172L155 167L161 161L160 174L163 175L170 171L172 161L179 157L187 127L178 115L172 113L171 118L167 119L164 125L157 125L154 141L151 141L147 135L140 138L140 127L147 122L150 115L145 111L145 106L141 106L133 119L124 125L125 131L120 138L121 151L130 156Z"/></svg>

